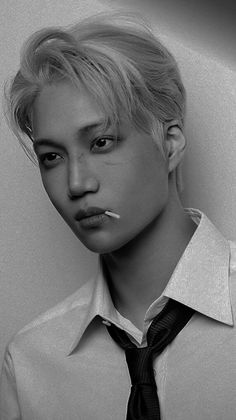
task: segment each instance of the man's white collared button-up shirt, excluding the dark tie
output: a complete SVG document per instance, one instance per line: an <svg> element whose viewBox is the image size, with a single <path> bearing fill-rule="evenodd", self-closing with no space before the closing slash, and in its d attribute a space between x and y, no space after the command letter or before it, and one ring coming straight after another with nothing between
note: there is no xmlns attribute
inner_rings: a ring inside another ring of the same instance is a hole
<svg viewBox="0 0 236 420"><path fill-rule="evenodd" d="M9 342L1 420L125 420L128 367L104 322L145 346L147 329L169 298L196 312L154 360L162 420L236 419L236 244L199 210L185 211L198 227L148 308L144 330L114 307L99 260L94 278Z"/></svg>

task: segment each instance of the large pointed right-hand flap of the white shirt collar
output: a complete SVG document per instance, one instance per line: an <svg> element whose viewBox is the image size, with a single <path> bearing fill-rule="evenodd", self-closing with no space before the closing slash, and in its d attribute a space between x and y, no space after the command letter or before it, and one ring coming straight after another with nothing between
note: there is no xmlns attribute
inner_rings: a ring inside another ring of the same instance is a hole
<svg viewBox="0 0 236 420"><path fill-rule="evenodd" d="M229 242L199 210L198 224L163 294L222 323L233 325L229 292Z"/></svg>

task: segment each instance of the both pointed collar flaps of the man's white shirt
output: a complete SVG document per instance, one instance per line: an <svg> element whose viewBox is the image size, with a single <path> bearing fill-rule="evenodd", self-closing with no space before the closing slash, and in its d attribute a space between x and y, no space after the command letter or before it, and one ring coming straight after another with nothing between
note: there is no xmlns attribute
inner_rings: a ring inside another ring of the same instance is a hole
<svg viewBox="0 0 236 420"><path fill-rule="evenodd" d="M194 310L222 323L233 325L229 293L229 242L199 210L185 212L198 224L188 246L180 258L163 296L190 306ZM81 320L78 319L76 337L70 355L91 321L96 316L118 326L119 316L112 302L105 280L101 258L95 277L84 287L91 291L91 299Z"/></svg>

